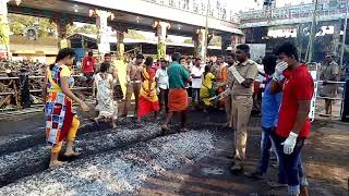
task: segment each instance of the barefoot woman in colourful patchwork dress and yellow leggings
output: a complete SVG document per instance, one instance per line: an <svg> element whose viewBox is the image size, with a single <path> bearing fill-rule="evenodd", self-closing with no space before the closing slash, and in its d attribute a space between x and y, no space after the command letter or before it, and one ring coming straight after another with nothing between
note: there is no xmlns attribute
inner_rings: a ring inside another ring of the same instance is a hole
<svg viewBox="0 0 349 196"><path fill-rule="evenodd" d="M58 155L62 148L63 139L67 140L67 157L76 157L80 154L73 149L73 143L80 126L72 101L80 105L82 111L88 111L87 105L77 98L71 90L74 78L70 68L75 59L73 49L61 49L55 64L47 69L43 85L43 100L45 106L46 140L52 145L49 167L62 164Z"/></svg>

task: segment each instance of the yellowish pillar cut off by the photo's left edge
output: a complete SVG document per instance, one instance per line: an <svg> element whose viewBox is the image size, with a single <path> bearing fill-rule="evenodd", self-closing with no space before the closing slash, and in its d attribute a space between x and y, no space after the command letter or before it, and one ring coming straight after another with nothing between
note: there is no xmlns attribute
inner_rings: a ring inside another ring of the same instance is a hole
<svg viewBox="0 0 349 196"><path fill-rule="evenodd" d="M8 2L0 0L0 57L10 57L10 26L8 22Z"/></svg>

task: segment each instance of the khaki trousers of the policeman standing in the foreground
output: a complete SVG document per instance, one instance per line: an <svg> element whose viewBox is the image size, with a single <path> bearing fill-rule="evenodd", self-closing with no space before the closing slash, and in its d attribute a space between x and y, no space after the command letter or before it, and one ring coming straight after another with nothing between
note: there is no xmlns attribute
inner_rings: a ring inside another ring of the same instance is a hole
<svg viewBox="0 0 349 196"><path fill-rule="evenodd" d="M243 163L245 159L246 140L248 140L248 123L250 120L253 99L252 96L231 96L231 112L233 118L233 127L237 130L234 134L234 161Z"/></svg>

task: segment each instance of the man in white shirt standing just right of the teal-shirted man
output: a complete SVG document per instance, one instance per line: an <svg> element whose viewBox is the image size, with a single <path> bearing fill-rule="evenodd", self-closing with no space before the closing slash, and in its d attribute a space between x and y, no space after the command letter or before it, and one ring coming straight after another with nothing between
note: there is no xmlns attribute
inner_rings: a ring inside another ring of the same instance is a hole
<svg viewBox="0 0 349 196"><path fill-rule="evenodd" d="M191 77L192 77L192 105L197 105L200 101L200 88L202 86L203 79L203 73L205 69L201 64L201 59L195 59L195 64L191 70Z"/></svg>

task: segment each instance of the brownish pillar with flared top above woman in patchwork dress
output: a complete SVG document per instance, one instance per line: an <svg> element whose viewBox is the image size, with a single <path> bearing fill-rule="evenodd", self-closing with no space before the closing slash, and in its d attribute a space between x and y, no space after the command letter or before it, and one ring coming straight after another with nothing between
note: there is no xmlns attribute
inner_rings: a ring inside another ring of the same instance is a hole
<svg viewBox="0 0 349 196"><path fill-rule="evenodd" d="M58 48L69 48L70 41L67 39L67 28L68 25L73 25L73 21L70 17L60 17L60 16L53 16L51 19L56 25L57 25L57 36L58 36Z"/></svg>

